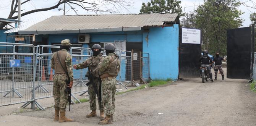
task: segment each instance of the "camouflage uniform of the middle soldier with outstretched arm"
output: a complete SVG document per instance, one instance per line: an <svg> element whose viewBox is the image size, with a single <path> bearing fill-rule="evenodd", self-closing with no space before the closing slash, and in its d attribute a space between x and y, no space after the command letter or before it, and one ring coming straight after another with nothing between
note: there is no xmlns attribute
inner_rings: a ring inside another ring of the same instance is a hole
<svg viewBox="0 0 256 126"><path fill-rule="evenodd" d="M84 69L84 68L89 67L91 69L91 71L93 71L92 74L95 77L93 82L98 91L99 91L99 71L96 68L97 68L98 64L102 61L103 61L102 54L99 54L97 56L92 56L92 57L86 59L83 63L78 63L76 65L77 66L76 69ZM96 69L96 70L94 71L94 69ZM88 71L86 74L89 74ZM99 92L97 92L97 93L99 93ZM92 84L90 84L88 86L88 94L89 94L89 99L90 99L90 109L96 110L96 94L94 92L94 88L93 88ZM103 107L103 104L99 102L99 98L98 98L98 104L99 104L99 110L103 111L104 107Z"/></svg>

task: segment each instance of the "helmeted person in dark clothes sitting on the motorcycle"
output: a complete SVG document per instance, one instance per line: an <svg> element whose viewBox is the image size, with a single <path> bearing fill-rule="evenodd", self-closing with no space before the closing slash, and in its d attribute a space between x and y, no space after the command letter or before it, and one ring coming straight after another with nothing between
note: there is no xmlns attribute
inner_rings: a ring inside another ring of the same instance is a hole
<svg viewBox="0 0 256 126"><path fill-rule="evenodd" d="M209 69L208 72L209 72L209 74L210 74L211 82L213 82L213 80L212 80L212 71L211 71L211 67L210 67L210 65L209 65L209 64L212 63L212 60L211 60L211 58L208 56L208 51L207 51L207 50L204 50L203 56L200 57L199 62L202 63L201 67L207 67L207 69Z"/></svg>

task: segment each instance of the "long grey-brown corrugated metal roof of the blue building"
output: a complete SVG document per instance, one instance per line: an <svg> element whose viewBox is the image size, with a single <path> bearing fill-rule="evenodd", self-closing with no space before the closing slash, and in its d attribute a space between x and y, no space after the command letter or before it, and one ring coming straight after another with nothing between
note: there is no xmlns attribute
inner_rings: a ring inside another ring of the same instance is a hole
<svg viewBox="0 0 256 126"><path fill-rule="evenodd" d="M19 31L19 34L58 34L108 31L136 31L144 26L174 22L178 14L120 14L52 16Z"/></svg>

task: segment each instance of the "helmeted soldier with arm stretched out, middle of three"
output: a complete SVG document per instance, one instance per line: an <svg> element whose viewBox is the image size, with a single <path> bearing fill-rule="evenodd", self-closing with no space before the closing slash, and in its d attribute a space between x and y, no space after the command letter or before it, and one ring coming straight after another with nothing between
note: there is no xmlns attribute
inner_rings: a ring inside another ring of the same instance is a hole
<svg viewBox="0 0 256 126"><path fill-rule="evenodd" d="M93 82L96 86L97 93L99 94L99 70L96 69L98 64L103 61L103 57L101 52L101 46L99 44L94 44L92 46L92 57L86 59L83 63L79 63L73 66L74 69L84 69L89 67L92 71L92 74L94 76ZM87 71L86 74L89 74ZM90 109L92 110L91 113L86 115L87 118L90 117L95 117L97 116L96 114L96 94L94 91L93 84L90 84L88 86L88 94L89 94L89 99L90 99ZM100 119L104 120L104 107L102 103L99 102L98 98L98 104L99 104L99 110L100 110Z"/></svg>

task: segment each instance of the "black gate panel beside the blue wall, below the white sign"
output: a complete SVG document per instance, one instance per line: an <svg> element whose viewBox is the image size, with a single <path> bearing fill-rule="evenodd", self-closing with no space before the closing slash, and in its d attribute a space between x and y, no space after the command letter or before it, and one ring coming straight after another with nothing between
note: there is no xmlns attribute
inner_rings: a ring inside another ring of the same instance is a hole
<svg viewBox="0 0 256 126"><path fill-rule="evenodd" d="M181 42L180 29L180 45L179 45L179 78L199 78L201 44L187 44Z"/></svg>

